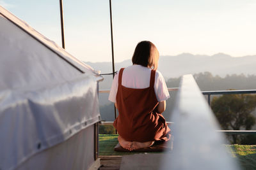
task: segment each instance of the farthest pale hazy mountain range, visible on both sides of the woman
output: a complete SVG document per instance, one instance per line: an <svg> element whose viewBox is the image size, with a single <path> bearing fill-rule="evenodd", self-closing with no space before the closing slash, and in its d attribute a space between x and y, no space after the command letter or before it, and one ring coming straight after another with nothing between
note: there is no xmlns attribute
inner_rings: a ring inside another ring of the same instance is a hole
<svg viewBox="0 0 256 170"><path fill-rule="evenodd" d="M86 62L101 73L111 73L111 62ZM121 67L131 66L131 60L115 63L115 70ZM212 75L221 77L227 74L256 74L256 55L244 57L231 57L225 53L215 55L193 55L191 53L182 53L176 56L159 57L158 70L161 71L165 80L169 78L178 78L183 74L196 74L208 71ZM100 89L110 89L112 76L104 76L105 80L100 83Z"/></svg>

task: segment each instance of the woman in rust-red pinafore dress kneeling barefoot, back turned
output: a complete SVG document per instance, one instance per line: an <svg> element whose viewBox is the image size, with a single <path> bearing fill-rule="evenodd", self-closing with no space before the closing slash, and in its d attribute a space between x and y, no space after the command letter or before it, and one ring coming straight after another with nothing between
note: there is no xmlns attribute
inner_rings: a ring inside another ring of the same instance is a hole
<svg viewBox="0 0 256 170"><path fill-rule="evenodd" d="M133 65L120 69L112 83L109 101L119 112L113 125L120 145L130 151L170 139L161 115L170 96L163 75L156 70L158 59L156 46L141 41L132 56Z"/></svg>

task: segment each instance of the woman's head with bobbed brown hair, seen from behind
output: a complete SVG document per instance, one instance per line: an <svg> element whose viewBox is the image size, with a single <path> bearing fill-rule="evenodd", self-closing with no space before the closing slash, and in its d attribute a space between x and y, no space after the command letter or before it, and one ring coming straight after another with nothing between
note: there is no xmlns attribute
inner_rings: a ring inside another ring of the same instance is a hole
<svg viewBox="0 0 256 170"><path fill-rule="evenodd" d="M157 69L158 59L159 52L156 46L150 41L141 41L134 50L132 64Z"/></svg>

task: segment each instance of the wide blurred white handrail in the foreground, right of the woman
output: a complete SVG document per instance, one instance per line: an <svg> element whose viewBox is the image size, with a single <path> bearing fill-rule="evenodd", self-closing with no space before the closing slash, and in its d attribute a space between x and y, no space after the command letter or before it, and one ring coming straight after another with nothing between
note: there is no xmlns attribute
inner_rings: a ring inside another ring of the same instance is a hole
<svg viewBox="0 0 256 170"><path fill-rule="evenodd" d="M173 152L163 158L159 169L239 169L191 74L182 76L172 120Z"/></svg>

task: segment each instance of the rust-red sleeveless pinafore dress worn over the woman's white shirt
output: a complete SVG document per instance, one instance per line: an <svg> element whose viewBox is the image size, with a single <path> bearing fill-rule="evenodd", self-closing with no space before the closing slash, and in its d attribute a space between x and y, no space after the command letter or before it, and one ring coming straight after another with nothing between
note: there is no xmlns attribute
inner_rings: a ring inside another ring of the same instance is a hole
<svg viewBox="0 0 256 170"><path fill-rule="evenodd" d="M113 123L126 141L168 141L170 129L163 115L157 113L157 98L154 90L156 71L150 74L150 86L145 89L132 89L122 85L120 69L116 104L119 115Z"/></svg>

